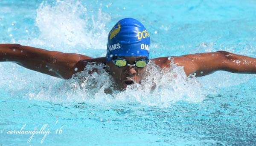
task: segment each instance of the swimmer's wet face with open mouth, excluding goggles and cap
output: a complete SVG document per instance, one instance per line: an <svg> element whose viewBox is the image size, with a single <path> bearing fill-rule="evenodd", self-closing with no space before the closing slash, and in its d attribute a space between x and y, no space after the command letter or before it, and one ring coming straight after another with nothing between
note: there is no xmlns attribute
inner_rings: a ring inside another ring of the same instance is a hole
<svg viewBox="0 0 256 146"><path fill-rule="evenodd" d="M135 61L140 60L145 57L122 57L124 58L128 64L134 64ZM125 89L127 85L134 83L133 80L137 83L141 83L143 78L143 74L145 73L145 67L137 67L137 66L124 66L118 67L116 66L112 60L107 62L107 65L110 68L110 73L116 83L119 86L119 89Z"/></svg>

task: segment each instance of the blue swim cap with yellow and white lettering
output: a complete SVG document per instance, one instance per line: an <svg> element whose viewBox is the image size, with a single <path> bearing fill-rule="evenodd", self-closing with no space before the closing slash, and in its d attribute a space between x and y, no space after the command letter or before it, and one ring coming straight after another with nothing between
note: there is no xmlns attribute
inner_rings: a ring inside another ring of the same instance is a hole
<svg viewBox="0 0 256 146"><path fill-rule="evenodd" d="M107 62L114 56L149 57L150 37L138 20L119 20L108 34Z"/></svg>

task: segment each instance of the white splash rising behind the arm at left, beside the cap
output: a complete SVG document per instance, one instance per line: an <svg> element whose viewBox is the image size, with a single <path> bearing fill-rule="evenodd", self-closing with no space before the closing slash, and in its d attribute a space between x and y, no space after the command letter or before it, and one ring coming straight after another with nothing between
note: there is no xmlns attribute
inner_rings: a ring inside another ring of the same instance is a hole
<svg viewBox="0 0 256 146"><path fill-rule="evenodd" d="M76 0L57 0L54 4L43 2L37 9L35 19L35 26L41 34L38 38L21 43L47 46L62 52L70 52L70 49L78 47L105 49L108 36L105 27L111 17L101 8L97 11L90 14L85 4Z"/></svg>

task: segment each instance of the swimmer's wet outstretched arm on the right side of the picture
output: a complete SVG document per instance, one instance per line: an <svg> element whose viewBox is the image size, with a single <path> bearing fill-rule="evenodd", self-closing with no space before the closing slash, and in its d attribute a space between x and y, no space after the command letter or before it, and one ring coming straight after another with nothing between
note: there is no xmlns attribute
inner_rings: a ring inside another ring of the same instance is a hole
<svg viewBox="0 0 256 146"><path fill-rule="evenodd" d="M184 66L187 76L196 73L196 77L201 77L215 71L256 74L256 58L226 51L188 54L171 57L169 60L167 57L161 57L158 58L158 62L161 61L162 63L158 64L162 65L161 67L170 67L172 59L174 59L174 63L178 66Z"/></svg>

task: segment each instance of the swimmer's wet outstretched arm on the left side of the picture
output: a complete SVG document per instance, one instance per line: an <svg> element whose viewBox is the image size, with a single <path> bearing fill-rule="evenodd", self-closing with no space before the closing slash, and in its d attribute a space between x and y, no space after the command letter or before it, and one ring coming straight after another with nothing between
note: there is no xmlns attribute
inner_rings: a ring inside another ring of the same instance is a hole
<svg viewBox="0 0 256 146"><path fill-rule="evenodd" d="M105 59L48 51L19 44L0 44L0 62L14 62L27 69L64 79L69 79L73 74L84 70L85 64L82 60L104 63Z"/></svg>

